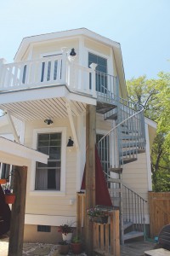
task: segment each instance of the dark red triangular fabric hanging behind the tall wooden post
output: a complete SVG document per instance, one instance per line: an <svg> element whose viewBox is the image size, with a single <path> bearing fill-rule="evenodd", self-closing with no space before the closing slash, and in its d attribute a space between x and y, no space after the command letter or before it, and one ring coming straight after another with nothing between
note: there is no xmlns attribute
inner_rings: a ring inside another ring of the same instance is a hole
<svg viewBox="0 0 170 256"><path fill-rule="evenodd" d="M112 207L111 196L107 188L107 183L105 182L105 175L101 166L97 148L95 148L95 187L96 205ZM81 189L86 189L86 166L82 177Z"/></svg>

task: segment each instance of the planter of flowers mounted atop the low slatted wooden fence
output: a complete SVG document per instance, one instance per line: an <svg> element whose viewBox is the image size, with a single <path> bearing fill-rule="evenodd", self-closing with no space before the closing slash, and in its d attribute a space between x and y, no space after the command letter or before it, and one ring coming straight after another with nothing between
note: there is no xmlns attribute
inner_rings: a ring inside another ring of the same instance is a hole
<svg viewBox="0 0 170 256"><path fill-rule="evenodd" d="M100 224L107 224L108 222L108 211L105 208L95 206L88 209L88 216L91 221Z"/></svg>

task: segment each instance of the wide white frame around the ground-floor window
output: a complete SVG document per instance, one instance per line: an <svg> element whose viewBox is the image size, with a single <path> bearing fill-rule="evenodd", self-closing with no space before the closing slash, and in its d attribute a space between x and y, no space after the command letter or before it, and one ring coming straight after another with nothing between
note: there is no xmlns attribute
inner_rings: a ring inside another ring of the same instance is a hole
<svg viewBox="0 0 170 256"><path fill-rule="evenodd" d="M65 156L66 156L66 127L34 129L32 148L37 149L37 134L40 133L61 133L61 171L60 171L60 190L35 190L36 162L31 164L31 191L30 195L41 196L63 196L65 195Z"/></svg>

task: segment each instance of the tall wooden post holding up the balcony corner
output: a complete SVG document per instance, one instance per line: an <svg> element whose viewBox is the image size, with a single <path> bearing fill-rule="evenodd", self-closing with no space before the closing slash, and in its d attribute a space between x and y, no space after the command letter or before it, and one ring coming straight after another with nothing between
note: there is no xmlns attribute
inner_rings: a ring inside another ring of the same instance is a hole
<svg viewBox="0 0 170 256"><path fill-rule="evenodd" d="M86 216L85 244L86 253L93 253L93 224L89 221L87 209L95 205L95 143L96 107L88 105L86 110Z"/></svg>

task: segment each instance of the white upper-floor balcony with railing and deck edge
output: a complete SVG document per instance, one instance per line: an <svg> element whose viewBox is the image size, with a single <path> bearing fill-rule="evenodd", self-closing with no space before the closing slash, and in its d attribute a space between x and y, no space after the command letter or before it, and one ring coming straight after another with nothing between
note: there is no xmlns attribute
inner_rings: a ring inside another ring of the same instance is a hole
<svg viewBox="0 0 170 256"><path fill-rule="evenodd" d="M60 108L58 112L63 116L65 110L62 112L61 105L65 105L65 98L84 111L86 104L112 104L117 95L116 77L96 72L94 63L82 67L65 53L10 64L0 61L0 108L15 116L20 115L22 108L23 111L31 108L31 112L34 108L38 112L42 107ZM24 114L20 116L27 119L29 114L25 118ZM41 111L38 116L41 118ZM35 115L31 118L35 119Z"/></svg>

